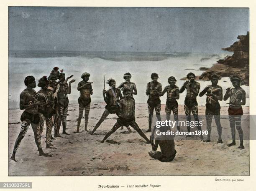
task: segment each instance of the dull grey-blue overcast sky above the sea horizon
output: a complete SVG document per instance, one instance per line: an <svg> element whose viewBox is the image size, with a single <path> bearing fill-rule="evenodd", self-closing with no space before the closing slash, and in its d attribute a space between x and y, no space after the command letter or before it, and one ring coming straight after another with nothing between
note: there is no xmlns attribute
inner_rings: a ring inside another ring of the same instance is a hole
<svg viewBox="0 0 256 191"><path fill-rule="evenodd" d="M217 53L248 30L248 8L9 7L10 50Z"/></svg>

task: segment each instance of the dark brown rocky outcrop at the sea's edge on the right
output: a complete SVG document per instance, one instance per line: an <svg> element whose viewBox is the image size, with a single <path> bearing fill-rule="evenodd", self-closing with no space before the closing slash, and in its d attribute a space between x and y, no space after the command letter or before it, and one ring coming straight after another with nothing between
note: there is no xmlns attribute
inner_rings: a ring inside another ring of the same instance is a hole
<svg viewBox="0 0 256 191"><path fill-rule="evenodd" d="M238 75L242 79L241 85L249 85L249 32L246 35L239 35L237 38L239 40L233 45L222 48L222 50L234 52L233 55L218 60L211 68L200 68L200 70L206 71L196 79L207 81L214 73L220 77Z"/></svg>

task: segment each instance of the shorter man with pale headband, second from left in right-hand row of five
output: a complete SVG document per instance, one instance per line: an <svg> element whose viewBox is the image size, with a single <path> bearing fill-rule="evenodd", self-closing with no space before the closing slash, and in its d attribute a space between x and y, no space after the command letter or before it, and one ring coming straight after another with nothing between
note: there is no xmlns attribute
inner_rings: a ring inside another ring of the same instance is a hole
<svg viewBox="0 0 256 191"><path fill-rule="evenodd" d="M167 92L167 99L166 99L166 106L165 106L165 113L166 113L166 119L170 120L171 118L171 112L173 112L174 120L177 121L177 130L179 129L179 118L178 118L178 102L179 99L179 87L175 85L177 80L171 76L168 78L168 83L170 85L167 85L164 90L162 91L162 95Z"/></svg>

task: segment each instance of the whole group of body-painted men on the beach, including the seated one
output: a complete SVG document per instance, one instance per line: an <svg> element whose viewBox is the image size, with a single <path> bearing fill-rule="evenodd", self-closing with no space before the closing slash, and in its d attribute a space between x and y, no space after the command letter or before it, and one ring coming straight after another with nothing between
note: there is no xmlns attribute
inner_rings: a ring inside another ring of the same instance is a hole
<svg viewBox="0 0 256 191"><path fill-rule="evenodd" d="M67 127L67 113L69 99L68 94L71 93L71 84L74 83L74 79L70 80L73 75L65 78L65 73L63 70L59 71L58 67L54 67L50 75L43 76L38 80L38 87L41 88L38 92L34 90L36 88L36 81L33 76L27 76L24 80L26 89L20 93L20 109L25 110L20 120L22 121L20 133L18 138L15 141L13 148L13 154L11 159L15 160L15 154L18 150L21 140L26 135L28 128L31 124L35 142L38 147L39 156L52 156L51 153L44 153L41 146L41 134L44 129L44 122L46 122L46 148L55 148L53 146L53 141L57 137L61 137L59 134L61 122L62 122L62 133L69 135L66 132ZM82 81L78 83L77 90L80 92L80 97L78 98L79 103L79 116L77 118L77 130L74 133L79 133L80 123L84 112L84 130L87 130L89 112L90 112L90 103L91 95L93 94L92 82L89 82L89 73L82 73ZM161 100L160 97L165 93L167 94L166 98L166 119L170 119L171 112L174 114L174 120L178 121L178 103L179 93L183 93L184 90L187 90L187 95L184 101L184 111L186 114L187 121L191 120L191 113L195 118L195 121L199 122L198 118L198 105L197 105L197 96L202 97L206 95L206 122L207 122L207 138L204 139L200 135L200 139L204 142L210 142L210 133L211 133L211 123L212 117L215 118L215 123L218 128L218 142L223 143L221 134L222 127L220 124L220 103L219 101L228 100L229 101L229 121L230 129L232 135L232 143L228 146L236 145L236 130L238 130L240 138L240 146L238 148L243 149L243 130L241 128L241 116L243 115L242 105L246 103L246 93L241 88L240 83L241 79L238 76L230 77L230 80L234 88L228 88L223 97L223 90L218 85L219 77L213 74L210 77L211 85L206 86L200 92L200 83L195 81L195 74L188 73L187 80L184 82L182 87L179 89L175 83L177 80L174 76L168 78L168 83L164 90L162 90L161 83L158 82L158 74L151 74L151 81L146 85L146 95L148 95L148 130L145 132L151 132L150 140L147 138L145 133L141 131L138 124L135 121L135 99L133 95L137 94L136 84L131 82L131 73L125 73L123 76L125 82L121 83L116 88L116 82L113 78L107 80L107 84L110 86L110 89L103 89L103 98L105 103L105 111L102 113L100 120L97 122L93 130L90 132L91 135L100 127L101 123L107 118L110 113L115 113L118 116L118 119L113 126L113 128L106 133L105 137L102 139L103 143L112 133L114 133L118 128L127 127L128 133L131 133L129 126L134 128L141 137L143 137L147 143L151 143L152 151L149 152L149 155L153 158L158 159L159 161L166 162L172 161L175 157L176 150L174 149L174 140L172 136L161 135L157 138L154 138L154 131L156 126L154 126L153 131L151 130L152 117L154 110L156 113L157 121L161 121L160 111L161 111ZM58 81L57 81L58 80ZM69 82L68 82L69 81ZM105 87L105 85L104 85ZM54 127L54 137L51 135L52 128ZM170 127L161 127L160 131L169 131ZM197 129L201 131L201 127L197 126ZM177 130L180 131L180 127L177 126ZM187 126L187 131L190 132L190 127ZM89 132L89 131L88 131ZM190 136L190 135L187 135ZM154 142L155 141L155 142ZM160 151L156 151L158 145L161 148Z"/></svg>

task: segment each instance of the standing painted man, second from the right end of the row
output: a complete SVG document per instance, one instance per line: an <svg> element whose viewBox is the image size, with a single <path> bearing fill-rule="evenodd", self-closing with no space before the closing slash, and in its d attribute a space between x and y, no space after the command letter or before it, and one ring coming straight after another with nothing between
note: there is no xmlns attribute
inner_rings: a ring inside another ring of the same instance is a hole
<svg viewBox="0 0 256 191"><path fill-rule="evenodd" d="M206 95L206 104L205 104L205 116L206 116L206 126L207 126L207 139L204 139L204 142L211 141L211 131L212 131L212 116L214 116L215 123L217 125L217 131L219 138L217 143L223 143L221 139L222 127L220 124L220 103L222 101L222 88L218 84L218 76L213 74L210 77L212 85L207 85L204 90L199 94L200 97ZM205 94L206 93L206 94Z"/></svg>

